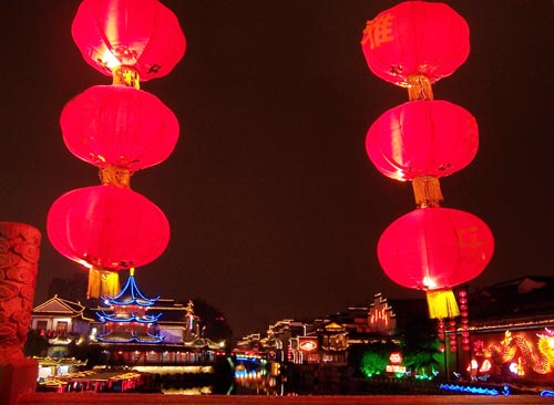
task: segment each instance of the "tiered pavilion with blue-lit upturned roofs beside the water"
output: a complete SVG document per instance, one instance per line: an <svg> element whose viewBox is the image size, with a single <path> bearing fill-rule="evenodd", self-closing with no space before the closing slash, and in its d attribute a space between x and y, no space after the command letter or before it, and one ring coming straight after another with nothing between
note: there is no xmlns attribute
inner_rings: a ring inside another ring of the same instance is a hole
<svg viewBox="0 0 554 405"><path fill-rule="evenodd" d="M148 299L138 290L133 272L122 291L98 308L94 341L109 356L109 363L157 366L204 364L225 353L225 342L201 335L201 320L194 304L168 299Z"/></svg>

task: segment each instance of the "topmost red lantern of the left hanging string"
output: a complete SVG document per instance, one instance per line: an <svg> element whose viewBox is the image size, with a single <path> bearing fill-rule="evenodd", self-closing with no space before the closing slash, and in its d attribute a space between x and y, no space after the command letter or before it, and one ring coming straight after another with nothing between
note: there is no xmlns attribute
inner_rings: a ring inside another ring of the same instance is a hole
<svg viewBox="0 0 554 405"><path fill-rule="evenodd" d="M110 76L131 66L142 81L168 74L186 48L177 18L157 0L84 0L71 33L91 66Z"/></svg>

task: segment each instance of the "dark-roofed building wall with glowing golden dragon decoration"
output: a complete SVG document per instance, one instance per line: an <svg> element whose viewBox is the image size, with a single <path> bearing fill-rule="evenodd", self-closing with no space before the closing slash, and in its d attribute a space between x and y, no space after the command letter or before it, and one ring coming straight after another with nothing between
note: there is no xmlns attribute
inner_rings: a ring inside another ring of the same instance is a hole
<svg viewBox="0 0 554 405"><path fill-rule="evenodd" d="M471 350L450 356L452 370L473 381L554 382L552 297L548 277L522 277L470 294Z"/></svg>

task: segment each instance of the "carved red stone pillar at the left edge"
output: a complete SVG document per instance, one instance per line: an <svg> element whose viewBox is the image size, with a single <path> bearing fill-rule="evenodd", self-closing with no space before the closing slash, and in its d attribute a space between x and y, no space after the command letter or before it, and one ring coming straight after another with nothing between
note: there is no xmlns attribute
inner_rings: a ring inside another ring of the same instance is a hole
<svg viewBox="0 0 554 405"><path fill-rule="evenodd" d="M31 324L40 231L27 224L0 221L0 393L3 404L34 392L38 363L23 345ZM6 402L4 402L6 401Z"/></svg>

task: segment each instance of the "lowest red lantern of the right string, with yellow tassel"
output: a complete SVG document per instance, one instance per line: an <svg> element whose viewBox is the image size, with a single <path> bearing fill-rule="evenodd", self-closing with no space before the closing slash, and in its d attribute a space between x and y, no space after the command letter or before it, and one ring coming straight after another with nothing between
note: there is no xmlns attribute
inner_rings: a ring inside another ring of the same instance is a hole
<svg viewBox="0 0 554 405"><path fill-rule="evenodd" d="M431 318L459 314L452 287L479 276L492 258L494 239L480 218L451 208L419 208L392 222L377 253L400 285L428 291Z"/></svg>

